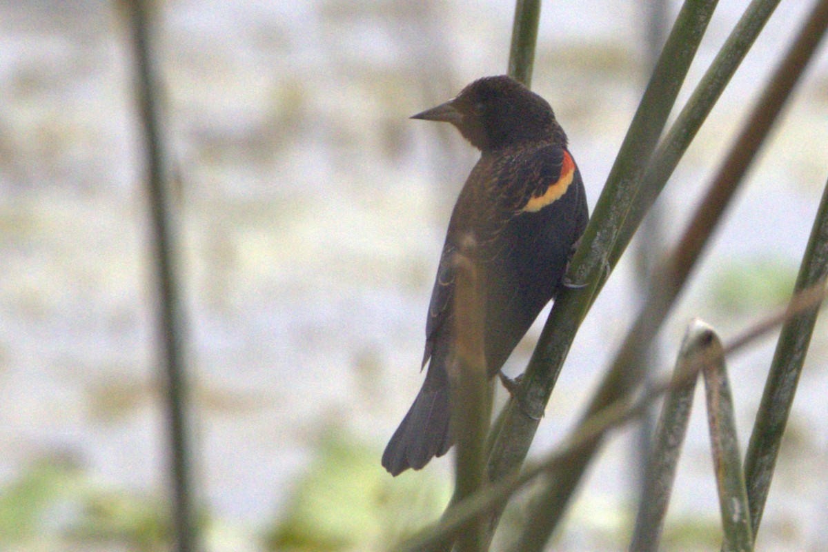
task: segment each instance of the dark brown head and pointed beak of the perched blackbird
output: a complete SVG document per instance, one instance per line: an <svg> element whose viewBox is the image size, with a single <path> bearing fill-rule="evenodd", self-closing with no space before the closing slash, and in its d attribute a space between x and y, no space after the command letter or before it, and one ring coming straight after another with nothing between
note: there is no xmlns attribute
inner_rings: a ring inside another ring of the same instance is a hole
<svg viewBox="0 0 828 552"><path fill-rule="evenodd" d="M549 103L505 75L475 80L454 99L412 119L450 122L481 151L551 139L566 146Z"/></svg>

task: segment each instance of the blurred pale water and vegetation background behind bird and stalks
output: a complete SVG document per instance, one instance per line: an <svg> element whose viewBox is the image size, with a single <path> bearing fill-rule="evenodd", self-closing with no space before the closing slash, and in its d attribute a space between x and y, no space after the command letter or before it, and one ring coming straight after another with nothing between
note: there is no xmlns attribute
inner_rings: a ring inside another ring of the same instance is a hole
<svg viewBox="0 0 828 552"><path fill-rule="evenodd" d="M660 21L669 28L679 2L666 3ZM719 3L678 105L748 2ZM450 457L396 479L379 458L421 383L445 226L476 160L454 129L407 118L506 70L513 2L155 7L205 548L382 550L435 519L450 495ZM810 7L782 2L676 170L651 227L667 245ZM625 0L543 7L532 85L569 134L590 207L646 84L651 9ZM2 550L166 550L166 432L131 51L112 2L0 2ZM786 300L828 177L826 127L823 52L674 312L662 370L691 317L726 338ZM600 295L535 454L580 415L642 278L622 262ZM539 329L508 373L522 371ZM761 550L828 549L826 336L823 319ZM743 450L773 345L765 339L730 363ZM703 409L697 401L667 550L719 545ZM605 449L556 550L626 547L642 458L634 443L613 439Z"/></svg>

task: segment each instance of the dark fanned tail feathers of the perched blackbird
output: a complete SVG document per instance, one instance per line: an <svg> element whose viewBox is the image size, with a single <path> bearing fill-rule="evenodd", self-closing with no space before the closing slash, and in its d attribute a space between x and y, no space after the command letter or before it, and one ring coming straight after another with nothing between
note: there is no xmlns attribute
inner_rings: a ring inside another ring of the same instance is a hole
<svg viewBox="0 0 828 552"><path fill-rule="evenodd" d="M431 358L420 393L383 453L383 468L392 475L422 468L431 458L445 454L453 442L449 378L445 363L436 360Z"/></svg>

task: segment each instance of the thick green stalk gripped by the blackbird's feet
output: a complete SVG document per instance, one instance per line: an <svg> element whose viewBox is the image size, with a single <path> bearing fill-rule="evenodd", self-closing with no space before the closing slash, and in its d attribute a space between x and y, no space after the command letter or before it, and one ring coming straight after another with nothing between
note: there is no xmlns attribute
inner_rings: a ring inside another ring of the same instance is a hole
<svg viewBox="0 0 828 552"><path fill-rule="evenodd" d="M643 160L649 158L662 132L715 5L716 0L688 0L681 8L571 263L570 275L575 275L572 280L585 285L561 290L524 374L517 401L510 401L504 414L489 457L489 478L493 480L519 468L526 458L552 387L595 293L598 275L594 269L603 269L640 182Z"/></svg>

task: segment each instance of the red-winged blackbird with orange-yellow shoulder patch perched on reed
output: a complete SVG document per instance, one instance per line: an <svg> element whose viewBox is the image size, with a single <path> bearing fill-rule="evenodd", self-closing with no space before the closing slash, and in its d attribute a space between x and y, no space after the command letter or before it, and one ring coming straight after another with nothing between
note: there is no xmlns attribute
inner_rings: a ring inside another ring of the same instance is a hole
<svg viewBox="0 0 828 552"><path fill-rule="evenodd" d="M426 322L431 358L419 395L383 454L397 475L450 448L447 368L454 360L453 256L471 235L485 282L484 354L493 377L562 284L589 218L580 171L546 100L506 76L475 80L413 116L455 125L482 152L451 214Z"/></svg>

